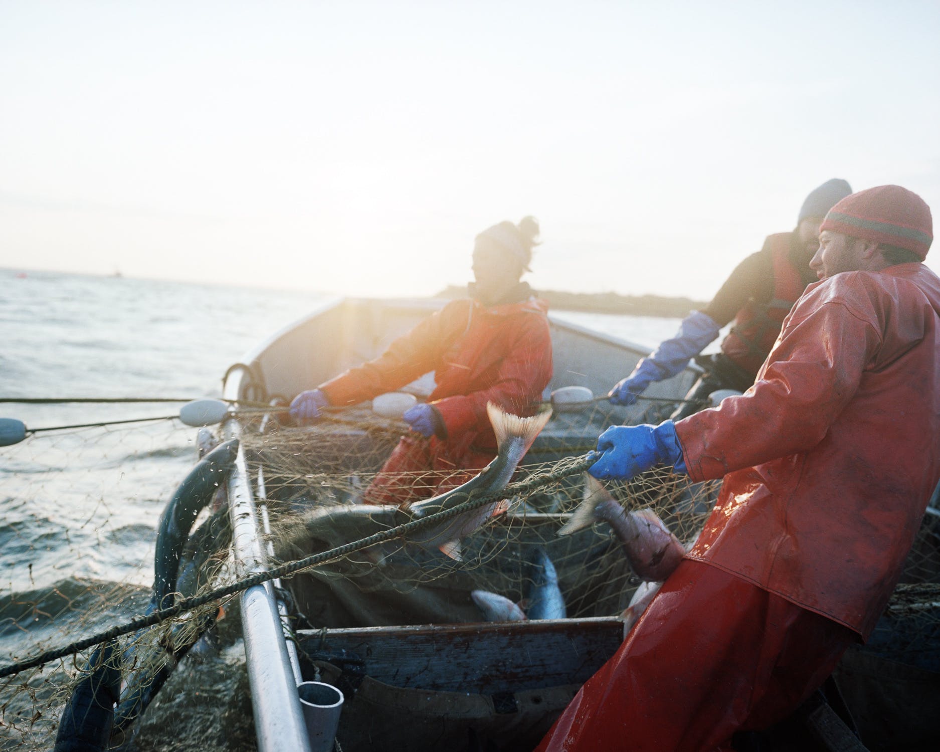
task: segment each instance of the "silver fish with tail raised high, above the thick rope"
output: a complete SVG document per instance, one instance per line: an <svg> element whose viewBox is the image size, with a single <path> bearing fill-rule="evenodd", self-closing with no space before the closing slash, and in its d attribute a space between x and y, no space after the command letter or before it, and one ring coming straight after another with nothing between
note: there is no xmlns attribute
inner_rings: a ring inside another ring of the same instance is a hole
<svg viewBox="0 0 940 752"><path fill-rule="evenodd" d="M525 452L552 416L552 411L548 410L532 417L519 417L504 412L493 402L487 403L486 413L490 417L498 447L493 462L457 488L410 504L405 511L412 519L421 519L435 512L452 509L476 496L502 491L512 478L516 465L525 457ZM463 512L431 527L430 530L415 533L409 541L426 549L438 548L446 556L462 561L461 540L507 509L509 501L499 499L492 504Z"/></svg>

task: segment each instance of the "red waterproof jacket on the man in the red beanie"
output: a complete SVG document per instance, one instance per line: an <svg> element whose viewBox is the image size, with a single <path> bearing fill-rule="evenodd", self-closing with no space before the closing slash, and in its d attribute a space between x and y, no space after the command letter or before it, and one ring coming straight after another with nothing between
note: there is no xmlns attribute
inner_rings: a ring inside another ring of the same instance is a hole
<svg viewBox="0 0 940 752"><path fill-rule="evenodd" d="M940 478L938 311L918 263L810 285L758 381L676 424L725 476L689 556L867 637Z"/></svg>

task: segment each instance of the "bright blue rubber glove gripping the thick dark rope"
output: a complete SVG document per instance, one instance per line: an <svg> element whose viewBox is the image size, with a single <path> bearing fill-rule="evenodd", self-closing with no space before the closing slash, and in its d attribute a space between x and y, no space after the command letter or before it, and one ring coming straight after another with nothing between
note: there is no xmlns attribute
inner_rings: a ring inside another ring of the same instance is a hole
<svg viewBox="0 0 940 752"><path fill-rule="evenodd" d="M672 465L687 474L676 424L665 420L658 426L612 426L597 440L601 459L588 469L594 478L629 480L656 464Z"/></svg>

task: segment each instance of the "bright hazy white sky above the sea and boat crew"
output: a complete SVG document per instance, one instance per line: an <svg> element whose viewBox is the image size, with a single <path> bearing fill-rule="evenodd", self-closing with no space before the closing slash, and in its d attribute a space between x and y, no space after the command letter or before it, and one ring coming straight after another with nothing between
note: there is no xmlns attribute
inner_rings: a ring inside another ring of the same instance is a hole
<svg viewBox="0 0 940 752"><path fill-rule="evenodd" d="M708 300L824 180L940 207L940 2L0 0L0 266ZM940 251L928 265L940 270Z"/></svg>

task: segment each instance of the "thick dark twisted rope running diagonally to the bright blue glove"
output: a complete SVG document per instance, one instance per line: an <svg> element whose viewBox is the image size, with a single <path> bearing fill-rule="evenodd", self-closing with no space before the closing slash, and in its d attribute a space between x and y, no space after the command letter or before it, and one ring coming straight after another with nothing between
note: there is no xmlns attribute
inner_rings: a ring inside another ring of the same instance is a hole
<svg viewBox="0 0 940 752"><path fill-rule="evenodd" d="M368 536L367 538L353 540L351 543L344 543L341 546L332 548L329 551L323 551L320 554L313 554L311 556L305 556L304 558L296 559L294 561L288 561L284 564L274 567L274 569L255 572L248 577L243 577L243 579L237 580L236 582L230 583L229 585L218 587L214 590L211 590L211 592L204 593L203 595L182 599L172 606L153 611L147 616L135 617L123 625L111 627L110 629L105 630L104 632L100 632L97 635L91 635L85 637L84 639L76 640L62 648L45 650L35 658L29 658L25 661L15 663L10 666L3 666L0 668L0 679L18 674L21 671L25 671L27 668L43 666L59 658L64 658L67 655L77 653L81 650L86 650L94 645L99 645L102 642L115 639L116 637L130 635L132 632L137 632L138 630L152 627L155 624L159 624L166 619L171 619L180 613L190 611L194 608L205 605L206 603L211 603L212 601L218 601L222 598L227 598L230 595L247 590L249 587L262 585L278 577L287 577L290 574L300 572L301 570L305 570L309 567L325 564L334 559L342 558L343 556L349 556L350 554L354 554L355 552L361 551L364 548L373 546L376 543L383 543L386 540L407 537L409 533L422 530L425 527L430 527L444 520L449 520L450 518L456 517L465 511L477 509L478 507L482 507L483 505L489 504L493 501L498 501L499 499L509 498L516 493L527 493L542 486L547 486L550 483L555 483L562 478L568 478L569 476L583 473L594 462L597 462L597 456L592 454L587 454L572 461L562 460L561 462L558 462L555 470L533 476L532 478L528 478L527 480L518 483L509 483L509 485L506 486L502 491L496 493L487 493L479 496L478 498L469 499L451 509L444 509L443 511L435 512L434 514L430 514L427 517L423 517L419 520L413 520L412 522L398 525L397 527L390 527L387 530L375 533Z"/></svg>

